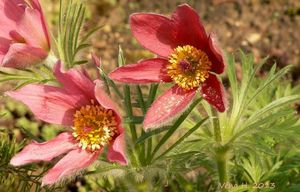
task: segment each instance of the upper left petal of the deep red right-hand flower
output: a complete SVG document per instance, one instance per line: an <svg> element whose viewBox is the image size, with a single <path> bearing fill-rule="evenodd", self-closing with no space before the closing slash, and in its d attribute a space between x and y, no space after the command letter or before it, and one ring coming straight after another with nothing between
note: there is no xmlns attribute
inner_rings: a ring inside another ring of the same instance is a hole
<svg viewBox="0 0 300 192"><path fill-rule="evenodd" d="M176 47L174 26L163 15L135 13L130 16L133 36L146 49L162 57L168 57Z"/></svg>

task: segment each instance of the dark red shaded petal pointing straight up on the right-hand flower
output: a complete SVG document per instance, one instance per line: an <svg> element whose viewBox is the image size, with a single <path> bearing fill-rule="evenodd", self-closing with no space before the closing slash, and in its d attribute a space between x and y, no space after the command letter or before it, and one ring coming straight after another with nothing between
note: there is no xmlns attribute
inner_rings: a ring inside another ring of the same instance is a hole
<svg viewBox="0 0 300 192"><path fill-rule="evenodd" d="M178 45L192 45L198 49L207 46L207 35L196 10L187 4L178 6L172 14Z"/></svg>

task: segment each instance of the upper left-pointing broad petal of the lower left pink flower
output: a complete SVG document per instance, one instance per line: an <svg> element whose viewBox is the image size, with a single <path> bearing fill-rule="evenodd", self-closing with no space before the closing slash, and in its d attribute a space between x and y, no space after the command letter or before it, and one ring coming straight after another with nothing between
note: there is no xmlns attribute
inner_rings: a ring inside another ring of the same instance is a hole
<svg viewBox="0 0 300 192"><path fill-rule="evenodd" d="M38 119L70 126L76 109L88 104L82 95L72 95L62 88L47 85L26 85L6 95L27 105Z"/></svg>

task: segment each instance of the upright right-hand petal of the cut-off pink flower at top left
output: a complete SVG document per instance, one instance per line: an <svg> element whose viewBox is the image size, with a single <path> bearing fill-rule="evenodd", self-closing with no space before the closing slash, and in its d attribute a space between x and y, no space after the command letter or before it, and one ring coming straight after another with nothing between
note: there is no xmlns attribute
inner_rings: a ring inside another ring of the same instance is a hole
<svg viewBox="0 0 300 192"><path fill-rule="evenodd" d="M48 34L41 13L27 7L22 19L17 22L17 31L24 37L26 43L49 51Z"/></svg>

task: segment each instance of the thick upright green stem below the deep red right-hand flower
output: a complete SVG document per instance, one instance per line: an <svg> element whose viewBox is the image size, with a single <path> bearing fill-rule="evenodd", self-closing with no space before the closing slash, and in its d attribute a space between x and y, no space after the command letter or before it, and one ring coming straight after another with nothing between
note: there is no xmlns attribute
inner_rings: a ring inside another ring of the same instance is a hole
<svg viewBox="0 0 300 192"><path fill-rule="evenodd" d="M228 181L228 175L227 175L227 147L224 147L222 145L222 135L221 135L221 129L220 129L220 122L218 117L218 112L213 109L213 127L214 127L214 136L216 141L216 163L218 167L218 174L219 174L219 182L221 185L226 183ZM223 189L223 191L226 191Z"/></svg>

